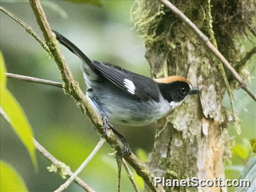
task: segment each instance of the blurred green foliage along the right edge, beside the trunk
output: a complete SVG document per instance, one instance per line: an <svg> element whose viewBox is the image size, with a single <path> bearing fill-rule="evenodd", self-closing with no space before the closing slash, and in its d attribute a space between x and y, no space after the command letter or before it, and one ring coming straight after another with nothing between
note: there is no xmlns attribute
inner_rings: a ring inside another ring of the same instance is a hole
<svg viewBox="0 0 256 192"><path fill-rule="evenodd" d="M247 33L248 37L246 39L237 40L237 43L243 45L243 50L241 50L244 51L243 55L250 51L253 46L255 46L254 42L256 42L256 37L250 32ZM251 82L248 84L253 92L256 92L255 64L256 54L247 62L248 69L251 71ZM231 126L229 128L230 137L235 137L231 162L226 162L225 166L225 176L229 179L238 179L246 163L255 156L249 140L256 137L256 104L247 93L241 89L234 90L234 96L235 109L238 117L241 119L241 134L238 135L234 127ZM228 101L229 98L226 94L223 105L230 109ZM230 142L233 142L233 139ZM235 190L235 187L230 187L228 190L232 192Z"/></svg>

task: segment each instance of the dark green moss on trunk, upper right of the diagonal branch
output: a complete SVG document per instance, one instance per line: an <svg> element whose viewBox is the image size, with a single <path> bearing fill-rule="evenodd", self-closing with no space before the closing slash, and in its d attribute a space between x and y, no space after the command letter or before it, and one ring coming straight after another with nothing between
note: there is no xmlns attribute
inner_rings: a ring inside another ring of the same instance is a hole
<svg viewBox="0 0 256 192"><path fill-rule="evenodd" d="M237 44L238 37L247 37L248 26L256 26L256 4L253 0L212 0L211 14L214 20L218 49L236 67L242 58L241 46ZM227 71L229 81L233 76ZM247 70L242 67L238 73L246 77ZM236 88L233 84L233 87Z"/></svg>

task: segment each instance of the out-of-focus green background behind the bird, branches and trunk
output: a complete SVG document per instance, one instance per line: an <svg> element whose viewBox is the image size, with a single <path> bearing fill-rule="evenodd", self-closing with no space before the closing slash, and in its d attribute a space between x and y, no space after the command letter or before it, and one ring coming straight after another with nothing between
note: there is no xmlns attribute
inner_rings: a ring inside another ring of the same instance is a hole
<svg viewBox="0 0 256 192"><path fill-rule="evenodd" d="M50 25L76 44L86 55L94 60L106 61L125 69L150 76L150 68L144 58L145 47L133 30L130 10L133 0L101 1L102 6L76 4L69 1L42 1ZM30 25L41 37L32 9L27 1L5 1L0 5ZM60 81L56 64L41 46L24 29L0 13L0 48L9 73L17 73L37 78ZM251 37L254 42L256 39ZM253 46L253 41L242 40L245 52ZM80 71L80 60L69 50L61 46L73 76L83 90L86 86ZM249 69L255 78L254 55ZM255 79L251 80L251 89L255 92ZM7 87L23 107L35 138L56 158L75 170L90 154L99 137L89 119L82 115L71 96L64 95L57 87L8 79ZM253 156L249 139L256 137L256 105L242 90L234 91L235 108L241 119L241 134L233 127L229 133L234 136L233 158L226 163L226 178L239 178L243 166ZM223 105L229 106L225 96ZM0 158L12 165L24 179L29 191L54 191L64 183L58 173L49 172L50 162L39 152L37 159L39 171L34 172L26 148L12 128L1 117ZM142 161L146 161L154 143L155 123L144 127L115 128L125 136L132 151ZM231 141L232 142L232 141ZM105 144L79 175L96 191L116 191L117 166L110 146ZM139 187L143 182L135 176ZM231 190L231 189L229 189ZM81 191L72 183L68 191ZM133 187L122 173L122 191L133 191ZM231 190L232 191L232 190Z"/></svg>

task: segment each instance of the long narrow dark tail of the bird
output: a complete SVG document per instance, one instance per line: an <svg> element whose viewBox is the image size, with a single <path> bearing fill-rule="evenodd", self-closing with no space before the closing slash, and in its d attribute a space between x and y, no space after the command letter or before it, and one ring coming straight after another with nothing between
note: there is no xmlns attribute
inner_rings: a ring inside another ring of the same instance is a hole
<svg viewBox="0 0 256 192"><path fill-rule="evenodd" d="M75 46L71 41L69 41L66 37L64 37L63 35L61 35L59 32L56 32L54 30L52 30L52 32L55 33L56 35L56 39L65 47L67 47L71 52L73 52L74 54L76 54L80 59L84 60L88 65L93 66L91 60L84 55L84 53L78 49L77 46Z"/></svg>

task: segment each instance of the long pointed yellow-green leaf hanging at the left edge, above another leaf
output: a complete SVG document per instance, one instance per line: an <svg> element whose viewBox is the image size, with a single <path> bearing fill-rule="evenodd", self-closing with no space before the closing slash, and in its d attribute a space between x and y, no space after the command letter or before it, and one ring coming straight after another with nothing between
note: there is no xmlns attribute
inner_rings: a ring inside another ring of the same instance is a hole
<svg viewBox="0 0 256 192"><path fill-rule="evenodd" d="M14 96L8 91L6 86L5 77L5 62L2 54L0 53L1 60L1 87L0 87L0 105L1 114L5 119L11 124L14 131L17 133L18 137L27 147L29 155L31 156L34 167L37 169L37 158L36 158L36 148L33 143L33 132L32 128L23 112L22 107L15 100Z"/></svg>

